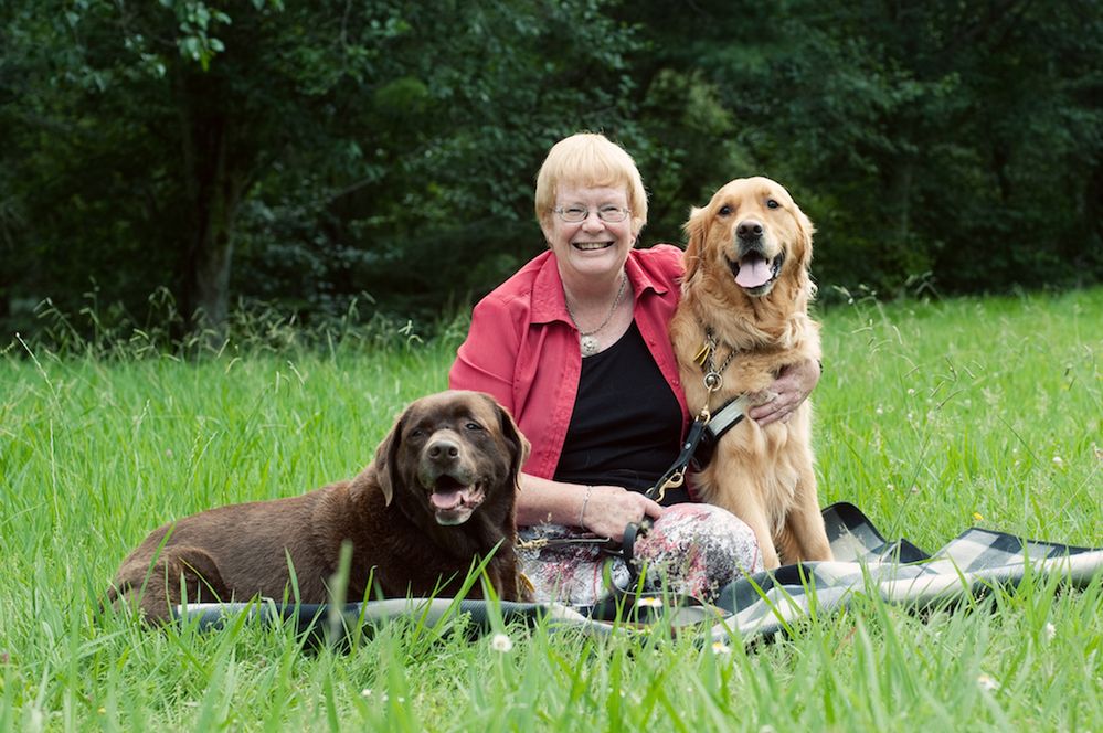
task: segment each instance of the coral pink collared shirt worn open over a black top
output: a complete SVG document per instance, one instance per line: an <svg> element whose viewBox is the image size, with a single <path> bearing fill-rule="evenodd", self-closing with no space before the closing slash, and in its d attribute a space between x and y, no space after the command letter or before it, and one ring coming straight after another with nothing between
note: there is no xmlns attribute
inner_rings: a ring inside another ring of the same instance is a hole
<svg viewBox="0 0 1103 733"><path fill-rule="evenodd" d="M667 334L680 295L681 249L669 244L632 249L625 273L635 294L636 325L678 399L682 431L686 395ZM574 412L582 373L579 329L551 251L538 255L475 307L467 340L448 374L456 390L488 392L532 443L524 471L552 478Z"/></svg>

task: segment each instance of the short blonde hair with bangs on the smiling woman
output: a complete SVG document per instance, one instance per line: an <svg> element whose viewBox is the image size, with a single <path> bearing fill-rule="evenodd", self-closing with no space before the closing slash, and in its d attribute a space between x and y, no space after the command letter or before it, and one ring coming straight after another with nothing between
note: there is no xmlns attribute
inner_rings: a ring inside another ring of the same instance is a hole
<svg viewBox="0 0 1103 733"><path fill-rule="evenodd" d="M579 132L552 146L537 173L537 219L547 224L559 187L624 188L632 210L632 232L647 223L647 192L636 162L604 135Z"/></svg>

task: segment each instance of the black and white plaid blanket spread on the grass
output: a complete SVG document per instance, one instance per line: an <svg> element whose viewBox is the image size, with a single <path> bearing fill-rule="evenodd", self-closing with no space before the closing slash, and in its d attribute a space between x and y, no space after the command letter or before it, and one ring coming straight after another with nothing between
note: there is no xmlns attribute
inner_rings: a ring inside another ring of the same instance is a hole
<svg viewBox="0 0 1103 733"><path fill-rule="evenodd" d="M1103 571L1103 550L1022 540L1004 532L968 529L933 554L906 540L887 541L873 523L850 503L831 504L824 522L835 555L832 562L786 565L728 585L712 605L685 605L667 609L675 626L709 625L713 640L741 637L750 640L786 631L809 610L831 613L847 607L855 593L879 594L885 601L923 607L983 594L993 586L1017 586L1028 574L1058 576L1083 587ZM653 596L654 597L654 596ZM623 613L623 601L621 608ZM641 598L635 618L660 613ZM178 617L201 628L222 626L231 616L246 613L257 618L282 618L299 630L322 634L370 627L395 617L437 624L456 614L469 617L471 628L487 630L494 623L550 619L556 627L605 635L613 604L572 608L561 604L411 598L347 604L277 606L252 604L192 604L178 608Z"/></svg>

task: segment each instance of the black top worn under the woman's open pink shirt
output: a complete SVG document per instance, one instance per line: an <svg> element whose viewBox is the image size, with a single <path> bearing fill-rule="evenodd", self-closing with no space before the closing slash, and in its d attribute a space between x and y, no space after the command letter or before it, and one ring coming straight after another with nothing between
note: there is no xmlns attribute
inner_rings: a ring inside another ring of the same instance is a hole
<svg viewBox="0 0 1103 733"><path fill-rule="evenodd" d="M633 321L621 340L582 360L555 480L646 491L678 457L681 428L678 400ZM668 491L664 503L688 498Z"/></svg>

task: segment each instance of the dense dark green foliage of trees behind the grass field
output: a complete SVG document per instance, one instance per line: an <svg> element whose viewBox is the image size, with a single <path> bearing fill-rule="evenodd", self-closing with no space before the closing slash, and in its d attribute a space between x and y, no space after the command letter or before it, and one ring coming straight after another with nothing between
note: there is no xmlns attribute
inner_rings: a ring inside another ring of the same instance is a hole
<svg viewBox="0 0 1103 733"><path fill-rule="evenodd" d="M764 173L827 297L1097 281L1101 57L1092 0L9 0L0 323L464 305L580 129L639 162L645 245Z"/></svg>

